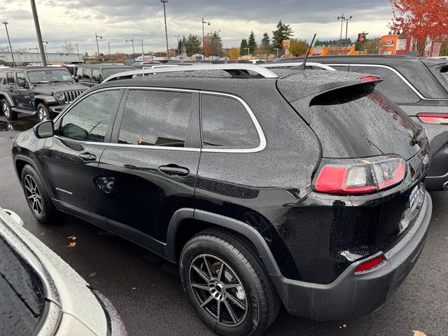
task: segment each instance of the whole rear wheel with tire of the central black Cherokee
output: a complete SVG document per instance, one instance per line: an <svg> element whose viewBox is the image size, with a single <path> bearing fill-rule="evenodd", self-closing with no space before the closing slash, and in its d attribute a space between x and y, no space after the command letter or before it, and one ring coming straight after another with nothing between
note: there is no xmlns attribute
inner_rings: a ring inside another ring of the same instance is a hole
<svg viewBox="0 0 448 336"><path fill-rule="evenodd" d="M262 335L279 314L279 296L258 253L230 232L208 229L190 239L179 272L190 304L218 335Z"/></svg>

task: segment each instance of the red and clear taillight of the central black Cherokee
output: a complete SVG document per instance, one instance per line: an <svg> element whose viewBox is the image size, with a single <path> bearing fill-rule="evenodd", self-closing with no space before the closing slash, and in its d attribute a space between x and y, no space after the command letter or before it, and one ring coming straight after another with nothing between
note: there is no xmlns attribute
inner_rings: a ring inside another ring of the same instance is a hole
<svg viewBox="0 0 448 336"><path fill-rule="evenodd" d="M395 186L405 177L405 160L397 156L365 159L323 159L314 190L362 195Z"/></svg>

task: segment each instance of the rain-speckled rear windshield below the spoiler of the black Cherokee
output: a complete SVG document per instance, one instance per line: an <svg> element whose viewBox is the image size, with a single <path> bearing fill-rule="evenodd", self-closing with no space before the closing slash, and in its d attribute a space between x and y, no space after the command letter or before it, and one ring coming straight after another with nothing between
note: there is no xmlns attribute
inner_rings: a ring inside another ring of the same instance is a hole
<svg viewBox="0 0 448 336"><path fill-rule="evenodd" d="M374 85L356 85L321 94L310 104L311 127L324 158L367 158L397 154L412 158L414 122Z"/></svg>

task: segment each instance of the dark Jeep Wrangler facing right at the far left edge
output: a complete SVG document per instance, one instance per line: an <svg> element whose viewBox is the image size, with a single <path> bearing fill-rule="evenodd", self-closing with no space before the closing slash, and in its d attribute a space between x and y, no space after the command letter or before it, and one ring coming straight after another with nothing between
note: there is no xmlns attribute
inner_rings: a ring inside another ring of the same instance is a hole
<svg viewBox="0 0 448 336"><path fill-rule="evenodd" d="M76 84L65 68L17 67L0 69L1 111L8 120L18 113L54 118L88 87Z"/></svg>

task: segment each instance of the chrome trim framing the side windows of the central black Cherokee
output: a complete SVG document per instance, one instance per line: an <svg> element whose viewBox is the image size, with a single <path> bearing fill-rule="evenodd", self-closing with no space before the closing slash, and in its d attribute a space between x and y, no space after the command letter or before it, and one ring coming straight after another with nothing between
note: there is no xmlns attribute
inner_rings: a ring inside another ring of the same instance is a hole
<svg viewBox="0 0 448 336"><path fill-rule="evenodd" d="M184 152L204 152L204 153L257 153L260 151L263 151L266 148L267 141L265 134L262 131L262 128L260 126L260 123L258 123L257 118L255 118L255 114L251 110L251 108L244 102L243 99L240 97L235 96L234 94L228 94L228 93L221 93L221 92L212 92L212 91L202 91L202 90L190 90L190 89L176 89L176 88L169 88L169 87L141 87L141 86L117 86L117 87L104 87L99 90L94 90L92 92L89 92L85 94L82 99L78 99L78 101L74 102L71 106L69 106L64 113L59 114L59 118L55 120L55 124L59 123L59 120L64 118L66 113L69 113L71 109L73 109L74 106L79 104L79 102L82 102L87 97L90 97L92 94L98 93L98 92L104 92L104 91L111 91L111 90L153 90L153 91L170 91L170 92L187 92L187 93L198 93L198 94L214 94L217 96L222 97L230 97L233 99L237 99L238 102L240 102L244 108L246 109L247 113L251 117L253 125L255 125L255 129L258 132L258 138L260 139L260 144L255 148L186 148L186 147L165 147L165 146L146 146L146 145L128 145L128 144L113 144L113 143L107 143L107 142L95 142L95 141L80 141L65 137L60 137L58 135L55 135L54 137L59 140L64 141L75 141L77 144L86 144L86 145L98 145L98 146L109 146L109 147L127 147L127 148L146 148L146 149L156 149L156 150L165 150L165 151L184 151ZM59 125L58 125L59 126ZM202 127L201 127L202 128Z"/></svg>

